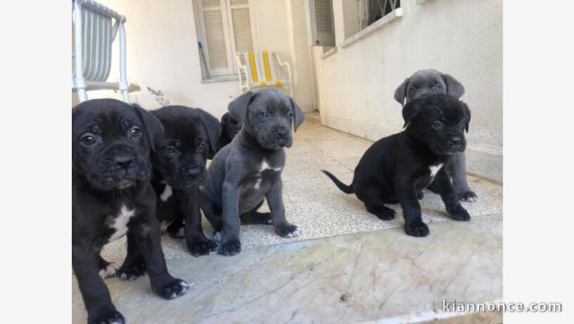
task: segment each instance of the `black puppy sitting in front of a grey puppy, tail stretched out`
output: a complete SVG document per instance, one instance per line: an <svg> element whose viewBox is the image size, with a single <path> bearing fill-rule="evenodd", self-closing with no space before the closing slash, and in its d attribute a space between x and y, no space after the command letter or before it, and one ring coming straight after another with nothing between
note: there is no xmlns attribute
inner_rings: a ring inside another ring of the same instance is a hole
<svg viewBox="0 0 574 324"><path fill-rule="evenodd" d="M400 202L407 235L429 234L429 227L422 223L417 192L433 181L448 214L457 221L470 220L445 171L453 154L465 151L470 110L448 94L432 94L407 103L403 117L406 129L370 146L355 168L350 186L324 172L344 193L354 192L367 210L382 220L396 216L385 204Z"/></svg>

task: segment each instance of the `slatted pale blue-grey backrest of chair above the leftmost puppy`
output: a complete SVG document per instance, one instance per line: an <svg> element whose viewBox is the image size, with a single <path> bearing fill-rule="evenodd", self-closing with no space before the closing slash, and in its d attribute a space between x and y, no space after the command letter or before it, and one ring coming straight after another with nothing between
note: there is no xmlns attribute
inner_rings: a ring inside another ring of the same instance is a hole
<svg viewBox="0 0 574 324"><path fill-rule="evenodd" d="M74 12L74 23L82 22L83 77L89 81L105 82L111 70L111 49L117 26L125 21L125 17L95 1L76 0L76 3L81 5L79 13ZM114 26L112 18L116 19Z"/></svg>

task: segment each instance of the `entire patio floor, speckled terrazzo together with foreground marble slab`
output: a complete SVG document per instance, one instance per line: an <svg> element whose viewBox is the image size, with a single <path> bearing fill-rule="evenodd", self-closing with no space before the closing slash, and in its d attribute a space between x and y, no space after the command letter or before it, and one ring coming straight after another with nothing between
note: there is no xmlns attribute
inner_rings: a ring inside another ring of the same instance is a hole
<svg viewBox="0 0 574 324"><path fill-rule="evenodd" d="M431 234L404 234L396 220L370 215L320 172L346 183L372 142L323 127L309 115L287 150L284 204L301 235L282 239L272 226L243 226L243 251L193 258L167 235L163 250L173 276L190 285L173 301L155 296L147 277L106 279L112 300L130 323L501 322L500 313L443 313L442 301L493 302L502 298L502 187L470 177L479 196L464 203L471 222L451 221L438 195L427 191L423 219ZM205 223L209 236L211 228ZM121 264L125 241L109 244L104 258ZM457 317L458 316L458 317ZM73 278L73 320L84 323Z"/></svg>

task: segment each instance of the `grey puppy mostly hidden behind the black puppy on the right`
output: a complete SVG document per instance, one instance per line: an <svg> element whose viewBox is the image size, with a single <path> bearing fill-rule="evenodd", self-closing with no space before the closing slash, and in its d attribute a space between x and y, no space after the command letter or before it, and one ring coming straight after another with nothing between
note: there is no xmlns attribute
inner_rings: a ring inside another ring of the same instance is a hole
<svg viewBox="0 0 574 324"><path fill-rule="evenodd" d="M419 70L411 77L406 78L396 88L395 100L404 106L407 102L430 93L448 93L451 96L460 98L465 93L465 87L448 74L442 74L433 69ZM456 153L447 171L452 178L458 199L476 201L476 194L468 187L468 182L466 181L465 153Z"/></svg>

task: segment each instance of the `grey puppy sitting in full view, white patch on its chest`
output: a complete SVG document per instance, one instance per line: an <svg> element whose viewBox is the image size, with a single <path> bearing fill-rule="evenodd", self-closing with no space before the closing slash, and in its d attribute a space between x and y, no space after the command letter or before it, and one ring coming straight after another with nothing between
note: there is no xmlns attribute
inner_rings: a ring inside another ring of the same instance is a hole
<svg viewBox="0 0 574 324"><path fill-rule="evenodd" d="M241 250L241 215L251 215L267 200L275 232L282 237L299 235L297 226L285 219L281 172L283 147L291 147L291 125L296 130L305 115L283 92L264 89L247 92L230 105L231 117L242 124L230 144L215 154L201 188L201 208L221 235L218 253L232 256Z"/></svg>

